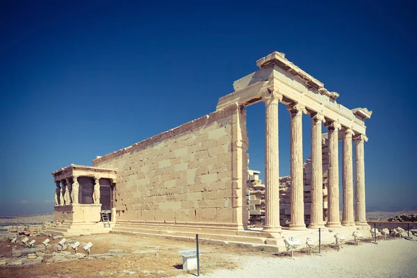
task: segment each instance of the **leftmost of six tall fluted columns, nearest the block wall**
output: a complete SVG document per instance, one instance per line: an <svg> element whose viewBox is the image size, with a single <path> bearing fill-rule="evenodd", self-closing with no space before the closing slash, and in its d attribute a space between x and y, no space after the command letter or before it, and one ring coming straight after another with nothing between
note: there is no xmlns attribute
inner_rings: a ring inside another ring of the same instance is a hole
<svg viewBox="0 0 417 278"><path fill-rule="evenodd" d="M279 224L278 104L276 91L262 97L265 102L265 225L264 231L281 231Z"/></svg>

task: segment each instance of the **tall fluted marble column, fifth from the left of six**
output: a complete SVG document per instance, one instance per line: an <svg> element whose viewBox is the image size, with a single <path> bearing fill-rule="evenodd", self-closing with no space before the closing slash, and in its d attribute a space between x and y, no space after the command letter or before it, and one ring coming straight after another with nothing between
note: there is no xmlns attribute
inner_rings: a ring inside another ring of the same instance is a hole
<svg viewBox="0 0 417 278"><path fill-rule="evenodd" d="M352 161L352 129L343 129L342 147L342 185L343 214L342 226L354 226L353 216L353 161Z"/></svg>

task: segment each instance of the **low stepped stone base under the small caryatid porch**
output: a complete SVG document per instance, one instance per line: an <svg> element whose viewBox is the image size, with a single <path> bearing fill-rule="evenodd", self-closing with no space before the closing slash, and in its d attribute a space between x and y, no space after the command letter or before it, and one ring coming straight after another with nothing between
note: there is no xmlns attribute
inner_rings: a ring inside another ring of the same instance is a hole
<svg viewBox="0 0 417 278"><path fill-rule="evenodd" d="M53 234L56 236L81 236L89 234L108 234L115 222L110 222L111 227L104 227L103 222L85 222L85 223L62 223L56 227L51 226L44 231L45 234Z"/></svg>

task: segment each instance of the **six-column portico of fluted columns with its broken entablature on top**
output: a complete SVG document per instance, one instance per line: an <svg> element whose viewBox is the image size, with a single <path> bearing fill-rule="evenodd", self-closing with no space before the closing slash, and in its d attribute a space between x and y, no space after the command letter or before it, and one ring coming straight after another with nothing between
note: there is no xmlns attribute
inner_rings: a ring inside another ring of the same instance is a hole
<svg viewBox="0 0 417 278"><path fill-rule="evenodd" d="M348 109L336 102L337 92L289 62L284 54L274 52L256 63L260 70L234 82L235 92L219 99L217 110L231 104L249 106L265 102L265 227L281 231L279 221L279 148L278 106L285 104L291 116L291 223L289 229L366 225L365 172L363 143L364 120L372 111ZM302 114L311 117L311 217L304 222ZM329 186L327 223L323 215L322 194L322 123L329 138ZM339 216L338 140L343 140L343 217ZM353 177L352 140L355 146ZM353 186L355 181L355 187ZM355 194L353 194L355 192ZM355 195L355 199L354 196Z"/></svg>

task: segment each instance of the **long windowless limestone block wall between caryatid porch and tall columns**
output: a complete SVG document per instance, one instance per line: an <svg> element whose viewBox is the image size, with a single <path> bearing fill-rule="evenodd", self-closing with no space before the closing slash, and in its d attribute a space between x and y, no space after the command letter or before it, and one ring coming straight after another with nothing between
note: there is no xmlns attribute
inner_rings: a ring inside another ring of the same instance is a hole
<svg viewBox="0 0 417 278"><path fill-rule="evenodd" d="M117 170L116 221L245 227L245 118L229 106L93 161Z"/></svg>

